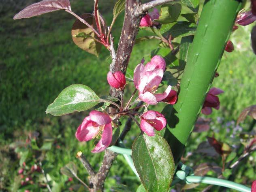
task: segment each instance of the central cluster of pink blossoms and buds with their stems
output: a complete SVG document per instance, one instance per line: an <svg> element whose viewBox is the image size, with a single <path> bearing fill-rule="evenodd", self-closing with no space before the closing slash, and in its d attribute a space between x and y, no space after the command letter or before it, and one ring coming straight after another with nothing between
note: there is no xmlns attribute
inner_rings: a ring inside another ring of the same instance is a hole
<svg viewBox="0 0 256 192"><path fill-rule="evenodd" d="M137 65L134 70L133 77L136 90L139 91L138 99L146 103L146 105L140 107L156 105L158 102L166 102L171 105L175 104L178 98L177 92L175 90L171 90L170 85L164 93L155 93L162 81L164 71L166 69L165 60L156 55L146 65L143 63L144 60ZM109 72L107 74L107 81L111 87L114 87L117 90L124 90L126 85L126 78L121 71L117 71L115 73ZM96 138L99 139L92 152L101 152L109 147L112 142L113 121L116 121L124 115L138 115L141 123L139 124L135 118L134 120L140 126L141 130L149 136L154 136L155 130L162 130L166 126L166 119L163 114L158 111L149 110L141 115L141 112L136 113L136 107L134 109L129 109L132 107L132 105L129 106L129 104L134 94L131 96L124 109L119 106L120 108L117 113L107 113L106 111L100 112L95 110L91 111L89 116L85 117L82 124L77 128L77 132L75 134L76 138L79 141L90 141ZM123 105L121 104L121 106Z"/></svg>

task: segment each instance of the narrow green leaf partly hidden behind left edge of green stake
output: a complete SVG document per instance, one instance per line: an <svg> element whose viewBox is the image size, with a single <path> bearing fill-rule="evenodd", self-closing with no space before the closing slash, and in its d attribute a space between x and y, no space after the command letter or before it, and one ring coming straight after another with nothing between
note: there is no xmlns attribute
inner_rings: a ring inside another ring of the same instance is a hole
<svg viewBox="0 0 256 192"><path fill-rule="evenodd" d="M181 38L179 47L179 70L183 70L188 60L188 51L192 45L194 36L186 36Z"/></svg>

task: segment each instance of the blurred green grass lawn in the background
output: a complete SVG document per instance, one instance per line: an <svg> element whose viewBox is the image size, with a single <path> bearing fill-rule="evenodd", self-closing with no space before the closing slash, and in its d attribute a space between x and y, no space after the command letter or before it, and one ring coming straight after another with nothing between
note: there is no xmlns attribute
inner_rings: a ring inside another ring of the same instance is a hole
<svg viewBox="0 0 256 192"><path fill-rule="evenodd" d="M60 148L53 147L45 154L45 167L49 168L47 174L53 188L65 191L70 184L65 184L67 177L61 175L60 168L74 161L81 168L79 176L86 178L85 170L75 158L77 151L83 151L95 169L100 166L102 154L90 153L93 142L79 143L75 139L75 131L88 112L53 117L45 114L45 109L65 87L74 83L91 87L99 96L107 95L109 86L106 76L111 59L104 48L97 58L73 43L71 27L75 19L64 11L14 21L13 15L33 1L17 2L0 3L0 190L12 190L19 169L19 158L9 148L9 144L23 141L29 132L36 130L43 138L51 137L60 145ZM111 10L114 3L114 0L107 0L100 4L100 11L108 25L113 17ZM89 0L73 0L71 6L75 13L81 15L91 13L93 4ZM113 28L116 46L123 17L123 14L118 17ZM235 51L224 53L218 69L220 77L213 81L214 87L225 91L219 97L221 108L219 111L213 110L209 115L212 122L208 132L192 134L186 152L196 149L198 143L206 141L206 136L213 133L220 141L230 145L237 144L237 133L249 126L251 119L247 118L241 124L242 130L235 130L239 113L245 107L255 105L256 100L256 57L250 48L251 28L252 26L241 26L232 34L231 41L235 45ZM146 61L149 60L150 52L157 45L158 41L155 40L135 45L129 68L133 70L143 57ZM126 92L131 93L132 89L128 85ZM160 110L160 107L157 109ZM125 123L124 119L122 123ZM133 125L125 141L128 146L137 132L138 128ZM256 153L251 156L252 160L239 167L236 177L239 183L250 185L256 179ZM196 157L192 157L188 165L194 166L207 161L207 158L198 162L195 159ZM118 183L127 185L131 191L140 183L121 155L111 168L106 191Z"/></svg>

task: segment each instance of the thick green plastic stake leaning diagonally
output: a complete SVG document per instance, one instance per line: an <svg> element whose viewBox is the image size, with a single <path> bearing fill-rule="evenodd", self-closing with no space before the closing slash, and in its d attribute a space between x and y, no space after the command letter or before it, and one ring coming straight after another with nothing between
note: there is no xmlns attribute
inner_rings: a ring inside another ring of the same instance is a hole
<svg viewBox="0 0 256 192"><path fill-rule="evenodd" d="M206 0L164 138L175 164L188 143L241 8L241 0Z"/></svg>

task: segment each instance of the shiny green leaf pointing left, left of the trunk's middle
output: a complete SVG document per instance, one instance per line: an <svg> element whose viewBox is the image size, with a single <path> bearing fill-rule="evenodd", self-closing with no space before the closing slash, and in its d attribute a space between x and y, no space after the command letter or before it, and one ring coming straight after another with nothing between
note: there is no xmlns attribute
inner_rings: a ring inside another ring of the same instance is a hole
<svg viewBox="0 0 256 192"><path fill-rule="evenodd" d="M75 111L85 111L100 102L100 98L90 87L81 84L66 87L59 96L51 103L46 113L60 116Z"/></svg>

